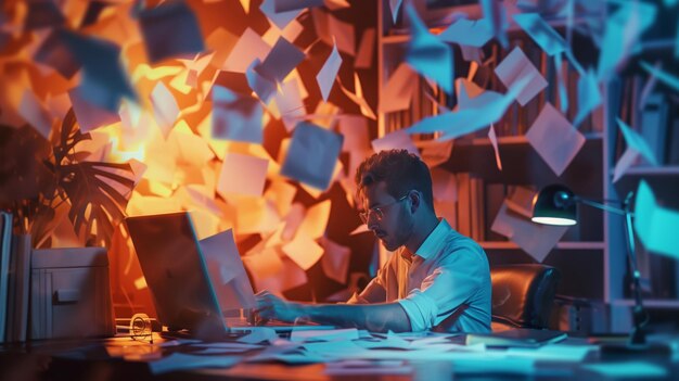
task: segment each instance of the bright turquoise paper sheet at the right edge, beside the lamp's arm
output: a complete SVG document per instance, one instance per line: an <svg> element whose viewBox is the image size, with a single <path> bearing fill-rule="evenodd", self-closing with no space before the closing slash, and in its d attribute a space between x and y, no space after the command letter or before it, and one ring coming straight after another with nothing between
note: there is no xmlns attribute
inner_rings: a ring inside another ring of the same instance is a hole
<svg viewBox="0 0 679 381"><path fill-rule="evenodd" d="M637 237L646 250L679 258L679 212L659 205L645 180L637 189L633 220Z"/></svg>

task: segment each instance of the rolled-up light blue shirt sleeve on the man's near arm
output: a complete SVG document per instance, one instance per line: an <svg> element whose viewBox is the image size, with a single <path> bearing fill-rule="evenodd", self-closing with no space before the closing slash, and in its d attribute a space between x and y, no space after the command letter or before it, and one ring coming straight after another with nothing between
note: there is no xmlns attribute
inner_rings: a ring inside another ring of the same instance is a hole
<svg viewBox="0 0 679 381"><path fill-rule="evenodd" d="M431 329L469 301L484 282L478 254L461 247L448 255L420 288L398 301L410 318L412 331Z"/></svg>

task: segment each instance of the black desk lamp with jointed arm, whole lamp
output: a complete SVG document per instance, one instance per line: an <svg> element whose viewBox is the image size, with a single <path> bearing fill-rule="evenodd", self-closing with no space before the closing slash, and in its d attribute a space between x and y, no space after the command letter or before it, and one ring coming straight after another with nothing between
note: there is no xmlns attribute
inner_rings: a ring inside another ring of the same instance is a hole
<svg viewBox="0 0 679 381"><path fill-rule="evenodd" d="M627 238L627 259L632 271L633 281L633 321L635 327L630 332L629 344L640 346L646 343L644 326L649 322L649 315L643 308L639 270L637 268L637 255L635 254L635 236L632 233L632 216L630 202L633 192L629 192L625 201L604 200L606 203L617 203L617 206L606 205L593 200L578 196L565 186L551 185L542 188L533 199L533 221L546 225L572 226L577 224L577 203L582 203L599 209L618 214L625 217L625 236Z"/></svg>

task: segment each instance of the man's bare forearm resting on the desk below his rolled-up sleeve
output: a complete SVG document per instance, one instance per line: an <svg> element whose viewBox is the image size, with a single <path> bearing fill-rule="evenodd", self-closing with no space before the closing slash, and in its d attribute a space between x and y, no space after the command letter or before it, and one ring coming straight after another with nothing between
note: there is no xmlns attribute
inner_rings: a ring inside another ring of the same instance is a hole
<svg viewBox="0 0 679 381"><path fill-rule="evenodd" d="M382 304L300 304L302 316L312 321L356 327L373 332L410 331L410 320L398 303Z"/></svg>

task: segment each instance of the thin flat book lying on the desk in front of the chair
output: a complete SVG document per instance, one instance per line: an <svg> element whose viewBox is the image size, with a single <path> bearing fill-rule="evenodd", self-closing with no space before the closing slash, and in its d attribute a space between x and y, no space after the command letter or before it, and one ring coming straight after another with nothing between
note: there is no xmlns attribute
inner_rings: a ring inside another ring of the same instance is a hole
<svg viewBox="0 0 679 381"><path fill-rule="evenodd" d="M568 334L562 331L515 328L492 333L467 333L466 345L486 344L499 347L538 347L564 341Z"/></svg>

